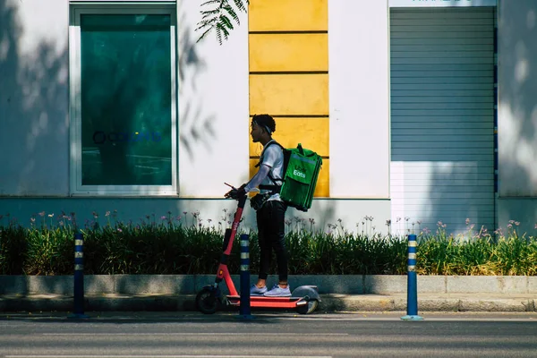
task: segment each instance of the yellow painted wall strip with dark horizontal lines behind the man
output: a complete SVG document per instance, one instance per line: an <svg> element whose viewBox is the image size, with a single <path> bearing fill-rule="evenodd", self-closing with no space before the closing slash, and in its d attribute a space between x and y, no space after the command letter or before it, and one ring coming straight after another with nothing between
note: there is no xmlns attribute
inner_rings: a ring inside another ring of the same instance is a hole
<svg viewBox="0 0 537 358"><path fill-rule="evenodd" d="M273 115L276 141L323 158L315 196L328 197L328 0L251 0L249 32L250 115ZM250 144L250 175L261 149Z"/></svg>

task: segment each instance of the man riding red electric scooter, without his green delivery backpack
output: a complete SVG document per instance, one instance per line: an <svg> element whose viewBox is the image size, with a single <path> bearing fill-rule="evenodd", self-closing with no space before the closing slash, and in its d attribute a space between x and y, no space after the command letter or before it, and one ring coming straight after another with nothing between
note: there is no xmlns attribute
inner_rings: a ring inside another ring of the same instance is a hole
<svg viewBox="0 0 537 358"><path fill-rule="evenodd" d="M226 192L226 198L237 200L238 205L233 224L231 228L226 229L224 252L218 264L215 283L204 286L196 296L196 306L203 313L214 313L220 303L233 306L241 304L240 296L227 268L227 260L230 257L234 237L243 216L247 192L259 192L250 200L252 209L256 210L260 244L260 272L257 284L252 285L250 289L251 307L295 309L299 313L311 313L315 311L320 302L317 286L299 286L291 292L287 281L288 265L285 241L287 205L279 194L287 159L284 156L283 148L272 139L272 133L275 130L276 124L270 115L253 116L251 139L263 145L258 164L260 169L248 183L239 188L227 184L232 187L232 190ZM299 149L301 153L304 153L300 144ZM311 153L316 156L315 153ZM310 204L311 200L308 205ZM302 206L300 207L302 208ZM272 250L276 251L278 282L271 290L268 290L267 277ZM226 297L222 296L218 286L222 281L226 283L229 290Z"/></svg>

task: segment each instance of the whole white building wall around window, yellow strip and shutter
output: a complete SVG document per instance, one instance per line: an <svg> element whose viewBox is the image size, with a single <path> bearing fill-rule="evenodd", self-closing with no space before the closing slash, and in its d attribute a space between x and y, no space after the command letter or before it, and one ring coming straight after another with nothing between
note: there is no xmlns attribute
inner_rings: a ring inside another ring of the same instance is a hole
<svg viewBox="0 0 537 358"><path fill-rule="evenodd" d="M117 209L132 220L200 210L201 217L214 221L222 209L234 208L234 202L219 198L226 192L224 181L243 183L249 175L248 21L243 14L242 25L222 47L215 38L196 43L199 8L194 3L177 5L180 197L88 200L69 198L69 2L0 0L2 215L9 212L27 223L42 210L76 211L91 219L93 210L102 216ZM497 222L520 221L521 231L533 233L537 4L512 4L499 1ZM341 219L354 229L372 216L377 229L385 228L390 217L388 29L388 0L328 1L329 192L334 199L315 200L305 214L291 209L287 217L315 218L318 227ZM234 90L222 90L222 83L233 83ZM247 222L252 222L250 211Z"/></svg>

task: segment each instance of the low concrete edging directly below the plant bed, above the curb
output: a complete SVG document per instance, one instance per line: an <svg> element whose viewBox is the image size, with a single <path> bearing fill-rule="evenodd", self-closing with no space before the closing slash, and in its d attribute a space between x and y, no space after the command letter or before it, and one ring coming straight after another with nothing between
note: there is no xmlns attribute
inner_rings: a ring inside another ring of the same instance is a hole
<svg viewBox="0 0 537 358"><path fill-rule="evenodd" d="M235 287L240 276L231 275ZM73 276L0 275L1 294L64 294L73 292ZM85 294L197 294L215 275L85 275ZM277 282L270 275L268 283ZM289 275L293 287L313 285L320 294L406 294L405 275ZM537 276L419 276L418 294L489 294L537 296Z"/></svg>

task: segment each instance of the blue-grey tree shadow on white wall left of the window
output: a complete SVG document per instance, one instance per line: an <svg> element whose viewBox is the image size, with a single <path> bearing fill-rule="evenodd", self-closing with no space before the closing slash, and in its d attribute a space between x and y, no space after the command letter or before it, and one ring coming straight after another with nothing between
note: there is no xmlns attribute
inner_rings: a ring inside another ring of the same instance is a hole
<svg viewBox="0 0 537 358"><path fill-rule="evenodd" d="M25 34L19 4L0 0L0 194L66 194L67 46Z"/></svg>

